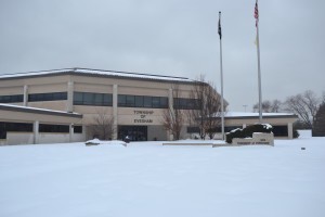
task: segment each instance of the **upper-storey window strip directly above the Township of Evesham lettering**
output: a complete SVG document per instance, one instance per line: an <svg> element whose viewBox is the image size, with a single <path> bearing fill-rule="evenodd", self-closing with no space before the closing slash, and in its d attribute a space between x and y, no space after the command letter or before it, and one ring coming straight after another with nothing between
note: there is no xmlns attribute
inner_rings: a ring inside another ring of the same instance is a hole
<svg viewBox="0 0 325 217"><path fill-rule="evenodd" d="M120 107L153 107L167 108L168 98L148 95L118 95L118 106Z"/></svg>

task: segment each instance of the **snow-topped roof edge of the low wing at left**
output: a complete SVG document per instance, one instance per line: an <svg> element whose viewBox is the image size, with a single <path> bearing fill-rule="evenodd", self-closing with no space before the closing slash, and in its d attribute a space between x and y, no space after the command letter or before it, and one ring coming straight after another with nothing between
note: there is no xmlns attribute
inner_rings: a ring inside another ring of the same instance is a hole
<svg viewBox="0 0 325 217"><path fill-rule="evenodd" d="M25 113L32 113L32 114L43 114L43 115L55 115L55 116L63 116L63 117L78 117L82 118L82 114L77 113L65 113L61 111L49 111L42 110L38 107L24 107L24 106L13 106L11 104L0 104L0 110L4 111L12 111L12 112L25 112Z"/></svg>

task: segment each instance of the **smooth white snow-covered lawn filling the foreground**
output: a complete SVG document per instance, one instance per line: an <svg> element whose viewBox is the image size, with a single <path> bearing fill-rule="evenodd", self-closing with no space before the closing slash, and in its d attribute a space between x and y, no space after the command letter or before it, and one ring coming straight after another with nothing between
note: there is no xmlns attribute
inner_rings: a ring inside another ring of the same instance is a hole
<svg viewBox="0 0 325 217"><path fill-rule="evenodd" d="M325 138L0 146L0 216L324 217Z"/></svg>

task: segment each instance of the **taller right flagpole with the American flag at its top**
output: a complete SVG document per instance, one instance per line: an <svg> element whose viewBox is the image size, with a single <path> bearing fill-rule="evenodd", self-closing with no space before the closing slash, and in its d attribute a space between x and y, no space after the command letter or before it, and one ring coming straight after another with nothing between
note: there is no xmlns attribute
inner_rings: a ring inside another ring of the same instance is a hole
<svg viewBox="0 0 325 217"><path fill-rule="evenodd" d="M258 0L256 0L255 5L255 17L256 17L256 37L257 37L257 55L258 55L258 80L259 80L259 122L262 120L262 85L261 85L261 63L260 63L260 38L259 38L259 11L258 11Z"/></svg>

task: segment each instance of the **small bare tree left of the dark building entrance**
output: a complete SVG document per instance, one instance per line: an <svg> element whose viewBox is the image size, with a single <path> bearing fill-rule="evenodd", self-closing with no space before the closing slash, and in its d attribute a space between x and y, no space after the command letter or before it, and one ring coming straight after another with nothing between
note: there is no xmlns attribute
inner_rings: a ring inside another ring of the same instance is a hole
<svg viewBox="0 0 325 217"><path fill-rule="evenodd" d="M99 110L89 126L89 131L92 137L98 139L112 140L113 133L116 131L113 123L113 115L108 114L105 108Z"/></svg>

